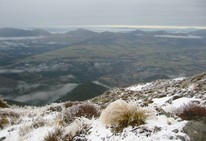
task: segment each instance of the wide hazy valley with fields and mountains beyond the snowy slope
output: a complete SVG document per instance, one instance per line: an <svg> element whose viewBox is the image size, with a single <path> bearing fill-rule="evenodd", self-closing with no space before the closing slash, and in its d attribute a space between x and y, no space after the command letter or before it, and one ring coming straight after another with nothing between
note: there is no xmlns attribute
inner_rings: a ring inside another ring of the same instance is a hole
<svg viewBox="0 0 206 141"><path fill-rule="evenodd" d="M16 29L13 32L16 34ZM22 35L25 31L18 32ZM105 90L92 81L115 87L191 76L206 70L205 33L79 29L63 34L41 30L38 38L4 38L0 40L0 95L46 104L83 100ZM29 95L33 97L29 99Z"/></svg>

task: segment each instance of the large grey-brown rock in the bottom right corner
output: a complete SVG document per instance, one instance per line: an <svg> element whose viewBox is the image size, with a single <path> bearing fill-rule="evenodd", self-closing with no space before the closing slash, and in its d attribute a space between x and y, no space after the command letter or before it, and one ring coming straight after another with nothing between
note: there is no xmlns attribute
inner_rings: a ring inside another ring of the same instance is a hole
<svg viewBox="0 0 206 141"><path fill-rule="evenodd" d="M206 117L189 121L183 131L190 137L191 141L206 141Z"/></svg>

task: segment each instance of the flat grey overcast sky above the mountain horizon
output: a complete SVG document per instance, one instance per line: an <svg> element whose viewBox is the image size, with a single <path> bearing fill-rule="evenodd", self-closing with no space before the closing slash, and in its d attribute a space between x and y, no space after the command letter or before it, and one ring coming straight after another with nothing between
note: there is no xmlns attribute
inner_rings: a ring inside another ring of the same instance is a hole
<svg viewBox="0 0 206 141"><path fill-rule="evenodd" d="M0 27L206 26L206 0L0 0Z"/></svg>

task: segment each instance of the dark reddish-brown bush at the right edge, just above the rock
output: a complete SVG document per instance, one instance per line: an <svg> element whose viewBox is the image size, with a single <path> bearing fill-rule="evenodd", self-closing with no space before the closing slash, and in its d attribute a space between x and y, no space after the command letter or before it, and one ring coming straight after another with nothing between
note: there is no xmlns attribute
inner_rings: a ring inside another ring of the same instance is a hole
<svg viewBox="0 0 206 141"><path fill-rule="evenodd" d="M206 107L189 103L176 110L176 115L184 120L193 120L199 117L206 117Z"/></svg>

